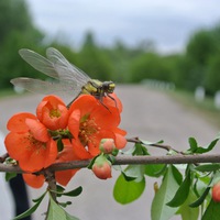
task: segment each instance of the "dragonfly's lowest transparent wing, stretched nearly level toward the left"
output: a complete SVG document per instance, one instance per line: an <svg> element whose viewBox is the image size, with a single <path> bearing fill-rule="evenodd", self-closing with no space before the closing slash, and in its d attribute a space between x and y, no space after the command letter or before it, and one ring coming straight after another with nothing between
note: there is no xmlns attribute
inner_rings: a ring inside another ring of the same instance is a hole
<svg viewBox="0 0 220 220"><path fill-rule="evenodd" d="M55 82L19 77L11 79L11 82L16 87L21 87L34 94L56 95L69 100L75 99L80 92L80 89L73 84L73 81L70 84L68 81Z"/></svg>

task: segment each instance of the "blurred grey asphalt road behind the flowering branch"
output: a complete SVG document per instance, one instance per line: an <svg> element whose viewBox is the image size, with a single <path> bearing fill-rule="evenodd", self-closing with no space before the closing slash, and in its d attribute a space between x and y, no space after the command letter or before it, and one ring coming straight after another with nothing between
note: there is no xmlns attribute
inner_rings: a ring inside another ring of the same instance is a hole
<svg viewBox="0 0 220 220"><path fill-rule="evenodd" d="M209 124L206 119L198 117L180 103L174 101L165 91L152 90L140 86L120 86L117 94L123 103L121 127L128 131L128 138L140 136L147 141L164 140L165 144L176 150L188 147L188 138L195 136L199 144L208 144L218 133L218 129ZM25 95L0 100L0 129L7 132L8 119L18 111L35 111L41 97ZM163 150L150 148L152 154L162 154ZM146 178L146 189L143 196L127 206L117 204L112 197L113 184L118 177L113 173L110 180L97 179L90 170L81 169L68 185L68 189L82 186L82 194L72 199L68 208L72 215L81 220L130 220L151 219L151 201L153 198L153 183L157 179ZM36 198L43 189L29 188L30 197ZM46 201L34 215L34 220L44 219ZM174 218L179 219L179 218Z"/></svg>

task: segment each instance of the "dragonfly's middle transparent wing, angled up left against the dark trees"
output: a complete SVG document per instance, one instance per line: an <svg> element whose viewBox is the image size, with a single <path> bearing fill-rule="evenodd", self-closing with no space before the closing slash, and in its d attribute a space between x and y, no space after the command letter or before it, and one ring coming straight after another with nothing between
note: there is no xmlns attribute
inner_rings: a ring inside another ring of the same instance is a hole
<svg viewBox="0 0 220 220"><path fill-rule="evenodd" d="M28 50L28 48L22 48L19 51L19 54L21 57L29 63L32 67L34 67L36 70L58 79L58 74L56 73L54 68L53 62L46 59L42 55Z"/></svg>

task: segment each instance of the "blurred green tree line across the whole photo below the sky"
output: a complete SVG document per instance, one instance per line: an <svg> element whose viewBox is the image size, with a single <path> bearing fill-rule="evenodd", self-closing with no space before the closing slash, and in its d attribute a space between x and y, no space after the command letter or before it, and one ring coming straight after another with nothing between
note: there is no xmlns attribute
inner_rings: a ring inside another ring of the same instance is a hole
<svg viewBox="0 0 220 220"><path fill-rule="evenodd" d="M24 0L0 1L0 89L10 87L14 77L45 77L25 64L18 51L28 47L45 55L48 46L59 50L91 78L116 82L156 79L187 90L202 86L209 95L220 89L220 25L196 31L179 54L162 55L151 42L129 47L118 41L105 47L96 43L91 32L75 50L56 40L45 43L45 33L34 25Z"/></svg>

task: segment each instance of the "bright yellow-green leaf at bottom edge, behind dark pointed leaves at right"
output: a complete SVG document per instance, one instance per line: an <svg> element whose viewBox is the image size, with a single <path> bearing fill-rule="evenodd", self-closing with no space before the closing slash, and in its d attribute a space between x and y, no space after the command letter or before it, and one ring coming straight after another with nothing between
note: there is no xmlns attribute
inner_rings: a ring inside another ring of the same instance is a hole
<svg viewBox="0 0 220 220"><path fill-rule="evenodd" d="M196 195L193 190L189 191L189 195L186 201L180 206L177 213L182 216L182 220L197 220L199 217L199 208L190 208L189 204L196 199Z"/></svg>

